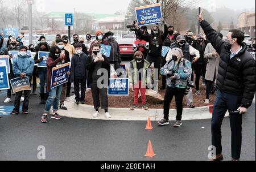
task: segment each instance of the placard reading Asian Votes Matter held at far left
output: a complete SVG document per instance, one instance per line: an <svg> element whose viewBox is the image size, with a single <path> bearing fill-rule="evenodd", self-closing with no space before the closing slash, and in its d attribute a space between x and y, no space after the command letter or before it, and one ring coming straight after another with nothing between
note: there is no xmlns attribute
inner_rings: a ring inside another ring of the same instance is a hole
<svg viewBox="0 0 256 172"><path fill-rule="evenodd" d="M13 88L13 93L28 90L31 91L30 80L27 76L23 79L15 78L10 80L11 88Z"/></svg>

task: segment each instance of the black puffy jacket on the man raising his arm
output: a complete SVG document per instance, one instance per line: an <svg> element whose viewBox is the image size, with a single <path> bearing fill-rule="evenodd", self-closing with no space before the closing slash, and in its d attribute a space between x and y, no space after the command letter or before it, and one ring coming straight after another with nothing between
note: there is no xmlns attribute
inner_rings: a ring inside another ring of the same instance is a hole
<svg viewBox="0 0 256 172"><path fill-rule="evenodd" d="M249 108L255 93L255 61L246 51L246 45L243 44L240 53L230 59L230 45L218 36L207 21L201 21L201 27L213 48L220 54L216 81L218 89L242 96L241 107Z"/></svg>

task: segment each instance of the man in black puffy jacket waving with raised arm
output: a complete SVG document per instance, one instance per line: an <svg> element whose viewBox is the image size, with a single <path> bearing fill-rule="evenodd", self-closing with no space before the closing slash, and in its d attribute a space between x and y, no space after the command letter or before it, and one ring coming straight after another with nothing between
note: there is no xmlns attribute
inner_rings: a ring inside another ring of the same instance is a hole
<svg viewBox="0 0 256 172"><path fill-rule="evenodd" d="M244 33L232 29L227 40L222 40L210 24L199 16L201 27L208 40L220 54L220 67L217 76L217 98L212 117L212 145L216 148L216 156L211 160L223 160L221 146L221 124L230 112L232 131L232 160L239 161L242 145L242 114L251 106L255 93L255 61L246 51L243 43Z"/></svg>

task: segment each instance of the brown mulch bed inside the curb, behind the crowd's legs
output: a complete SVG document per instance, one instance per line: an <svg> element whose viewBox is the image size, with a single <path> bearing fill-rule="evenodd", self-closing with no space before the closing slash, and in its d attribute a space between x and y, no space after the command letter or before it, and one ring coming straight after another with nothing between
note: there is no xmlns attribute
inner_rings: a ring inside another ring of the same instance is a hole
<svg viewBox="0 0 256 172"><path fill-rule="evenodd" d="M159 85L161 86L162 83L159 81ZM205 86L202 85L202 82L200 81L200 96L196 96L195 94L195 88L193 88L193 103L196 107L201 107L201 106L207 106L207 104L204 104L205 101ZM160 87L159 86L159 87ZM164 94L166 93L166 90L164 91L159 91L159 93L164 97ZM133 105L133 96L134 92L130 89L129 91L129 96L109 96L109 107L110 108L130 108L131 105ZM92 98L92 92L87 91L85 95L85 101L87 105L93 105L93 98ZM210 104L212 105L215 101L215 94L212 95L210 94ZM158 98L151 97L151 96L146 96L146 102L147 106L150 109L163 109L163 101L159 100ZM161 104L162 102L162 104ZM183 100L183 107L187 108L186 104L186 97L184 96ZM139 98L139 106L138 108L141 108L141 98ZM175 98L173 98L171 105L171 109L175 109Z"/></svg>

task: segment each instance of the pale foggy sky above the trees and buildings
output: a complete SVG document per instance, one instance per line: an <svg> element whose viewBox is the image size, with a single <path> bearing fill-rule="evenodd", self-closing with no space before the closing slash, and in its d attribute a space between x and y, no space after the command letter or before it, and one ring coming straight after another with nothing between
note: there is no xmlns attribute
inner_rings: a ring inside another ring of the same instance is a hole
<svg viewBox="0 0 256 172"><path fill-rule="evenodd" d="M11 6L18 1L25 0L3 0ZM127 6L131 0L34 0L35 7L39 11L51 12L85 12L97 14L114 14L117 11L127 11ZM171 1L171 0L170 0ZM10 2L13 2L10 4ZM209 11L216 11L219 7L228 7L238 11L255 11L255 0L199 0L193 7L203 7Z"/></svg>

